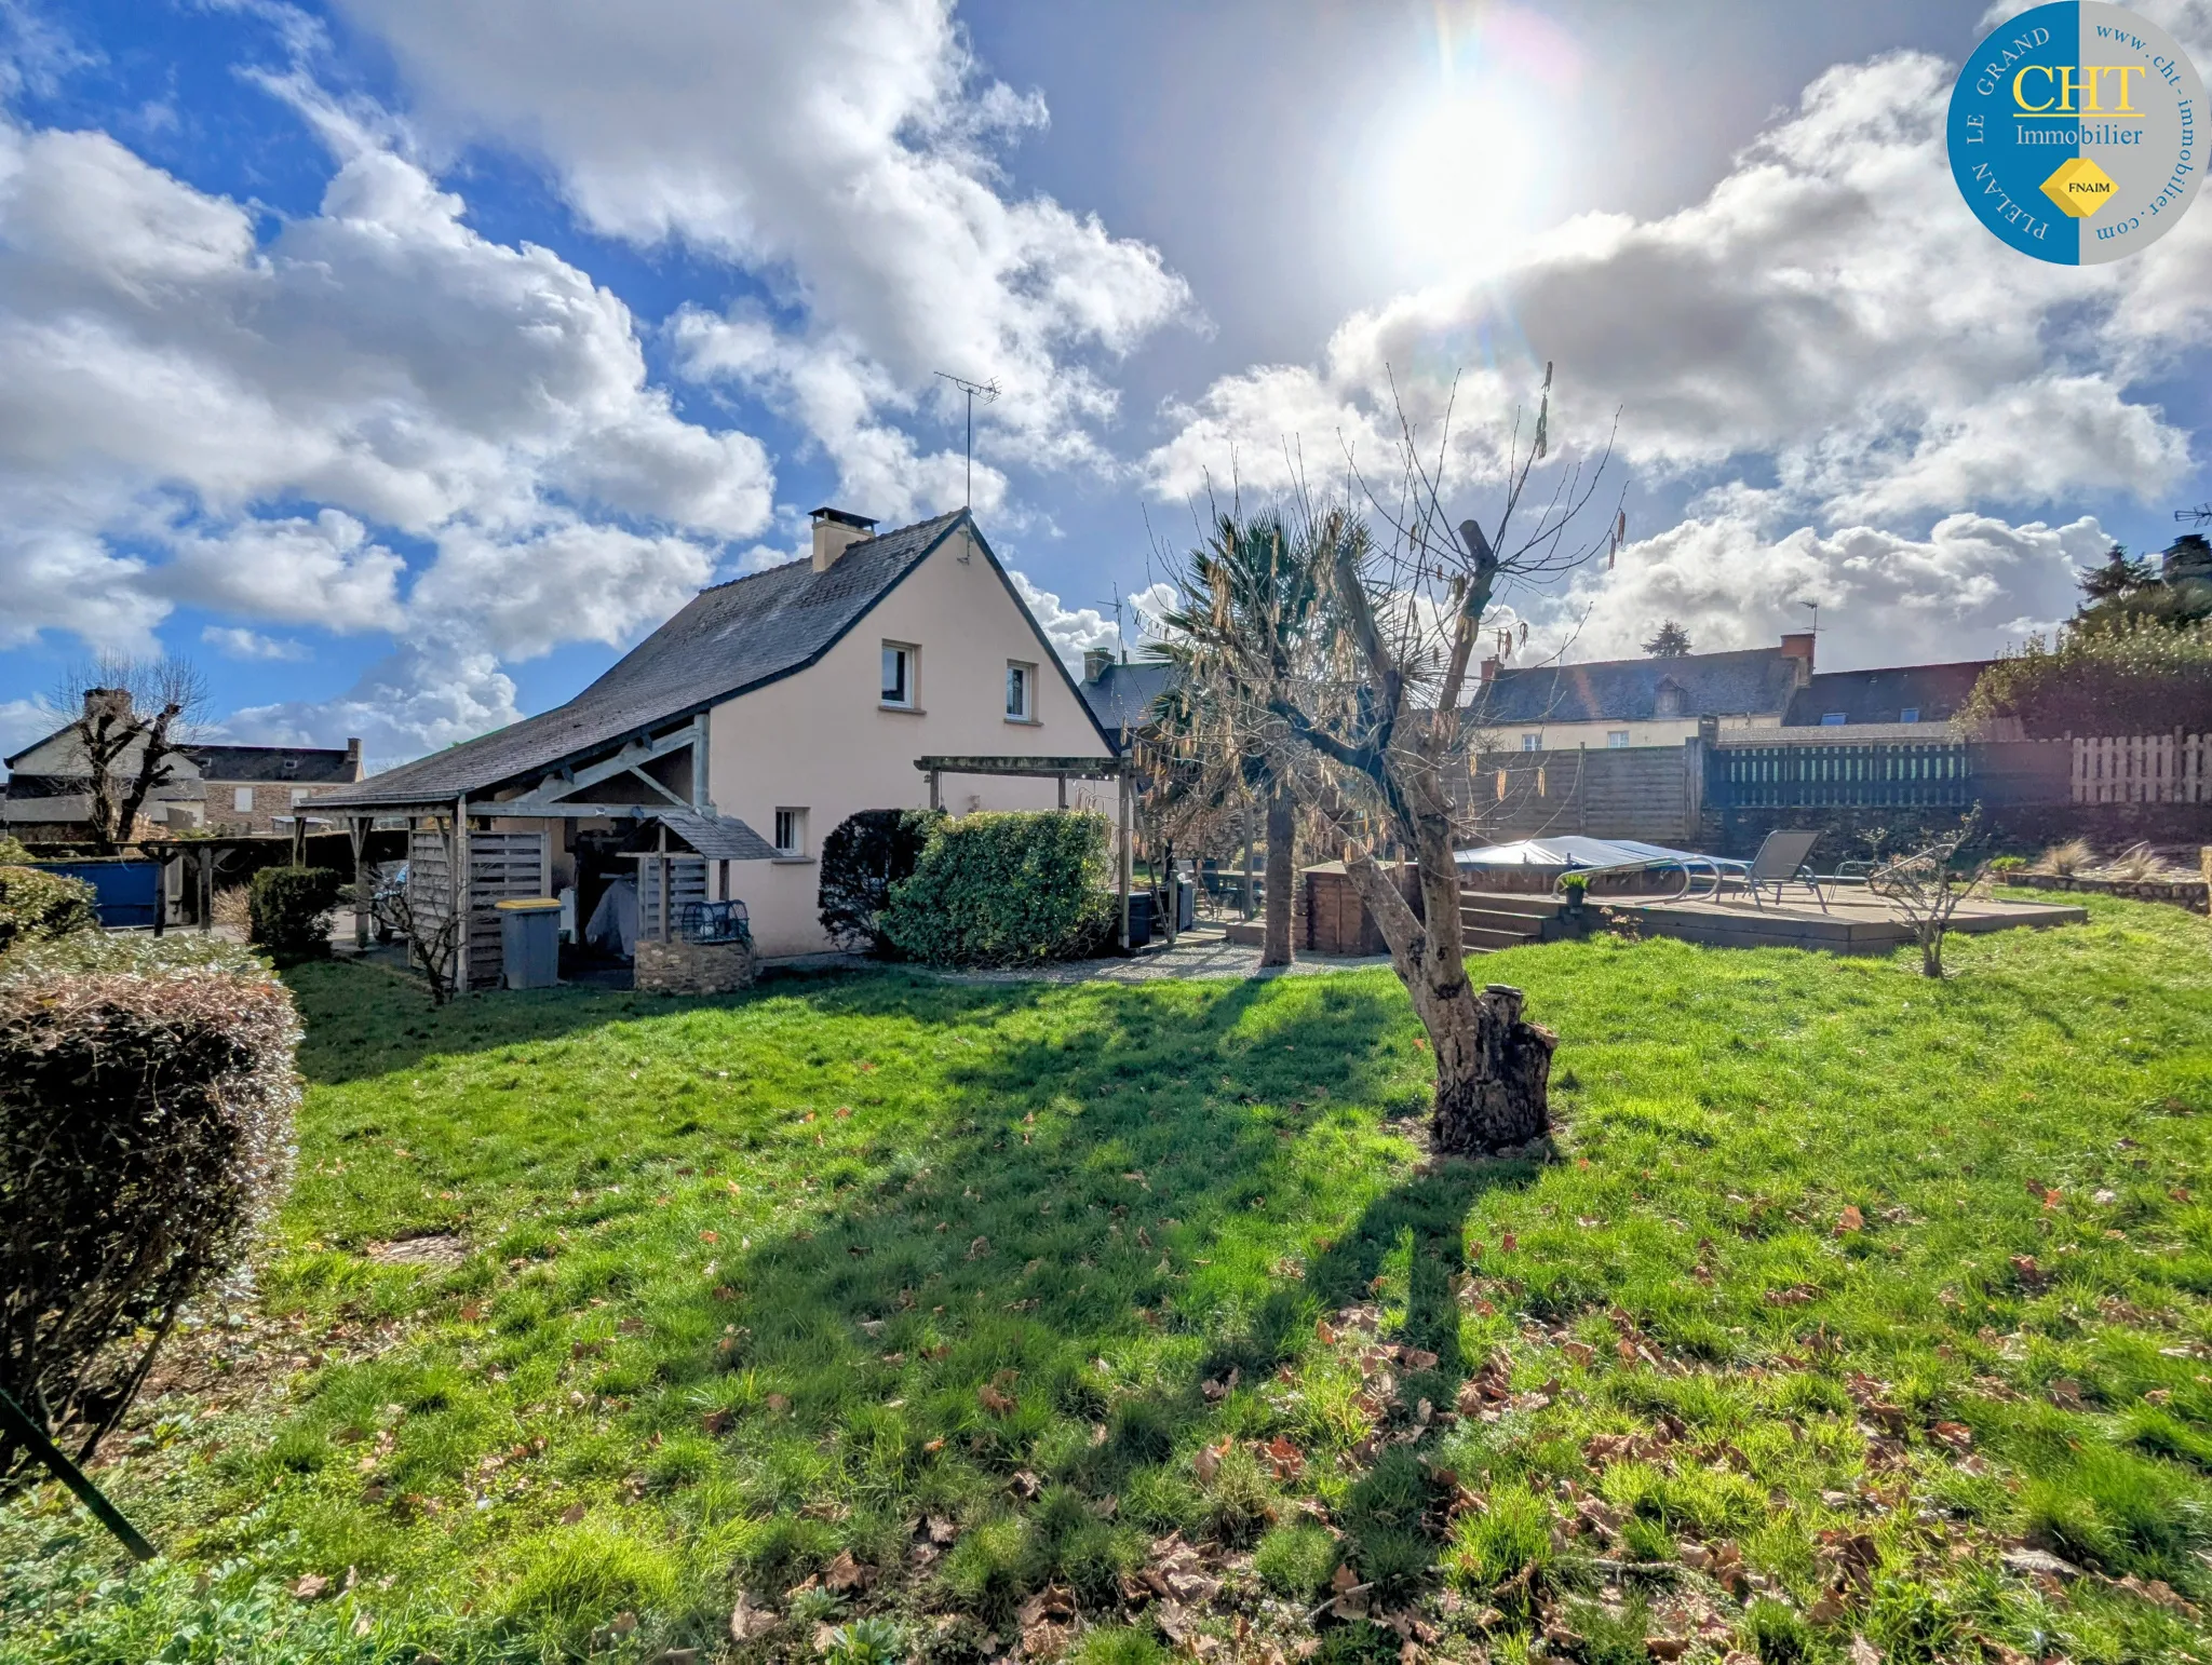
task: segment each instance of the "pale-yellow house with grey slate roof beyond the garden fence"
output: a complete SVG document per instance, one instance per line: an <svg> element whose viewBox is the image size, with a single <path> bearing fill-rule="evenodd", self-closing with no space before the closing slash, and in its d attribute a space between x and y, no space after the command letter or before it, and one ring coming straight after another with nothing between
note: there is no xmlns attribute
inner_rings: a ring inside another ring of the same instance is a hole
<svg viewBox="0 0 2212 1665"><path fill-rule="evenodd" d="M1571 752L1577 745L1679 745L1699 719L1721 730L1781 727L1790 701L1814 679L1814 637L1792 632L1776 648L1692 652L1677 659L1599 659L1582 666L1504 670L1482 661L1473 721L1484 743L1506 752Z"/></svg>

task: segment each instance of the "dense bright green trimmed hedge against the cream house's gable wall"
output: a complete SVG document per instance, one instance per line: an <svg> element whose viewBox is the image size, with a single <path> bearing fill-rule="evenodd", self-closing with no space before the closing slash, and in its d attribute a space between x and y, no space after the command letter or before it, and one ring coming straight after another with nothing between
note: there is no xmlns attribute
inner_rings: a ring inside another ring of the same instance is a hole
<svg viewBox="0 0 2212 1665"><path fill-rule="evenodd" d="M891 884L883 935L936 966L1082 960L1113 933L1106 816L989 811L945 820Z"/></svg>

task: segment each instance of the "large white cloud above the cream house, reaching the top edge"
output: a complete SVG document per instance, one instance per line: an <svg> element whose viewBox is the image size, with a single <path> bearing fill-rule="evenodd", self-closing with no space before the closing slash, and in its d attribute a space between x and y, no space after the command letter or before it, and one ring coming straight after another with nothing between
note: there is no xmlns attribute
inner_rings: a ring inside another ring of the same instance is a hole
<svg viewBox="0 0 2212 1665"><path fill-rule="evenodd" d="M980 420L1002 460L1104 464L1097 363L1190 314L1155 248L1004 188L995 150L1044 102L980 73L951 0L341 4L427 133L524 148L595 230L761 276L799 323L734 310L732 343L697 314L686 367L761 380L872 513L958 502L960 453L896 431L956 431L933 371L1000 383Z"/></svg>

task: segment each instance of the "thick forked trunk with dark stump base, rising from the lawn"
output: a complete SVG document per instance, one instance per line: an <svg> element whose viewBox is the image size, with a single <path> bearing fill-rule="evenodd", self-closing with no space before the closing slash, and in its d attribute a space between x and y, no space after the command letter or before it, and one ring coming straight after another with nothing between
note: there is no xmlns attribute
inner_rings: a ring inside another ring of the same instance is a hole
<svg viewBox="0 0 2212 1665"><path fill-rule="evenodd" d="M1389 942L1391 962L1436 1057L1436 1148L1486 1154L1551 1132L1551 1050L1557 1035L1522 1019L1522 991L1475 988L1460 933L1460 871L1442 803L1413 814L1420 913L1374 860L1347 871Z"/></svg>

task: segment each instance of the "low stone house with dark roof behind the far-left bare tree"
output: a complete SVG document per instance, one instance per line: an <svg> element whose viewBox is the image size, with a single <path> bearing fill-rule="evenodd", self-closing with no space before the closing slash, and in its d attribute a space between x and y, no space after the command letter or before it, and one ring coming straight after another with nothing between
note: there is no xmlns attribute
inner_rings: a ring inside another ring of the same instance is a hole
<svg viewBox="0 0 2212 1665"><path fill-rule="evenodd" d="M113 774L137 776L142 747L117 758ZM7 758L0 809L7 831L27 845L88 842L84 750L75 725L55 730ZM276 820L314 794L361 778L361 741L345 750L307 745L186 745L168 758L170 778L146 794L139 838L179 831L274 831Z"/></svg>

